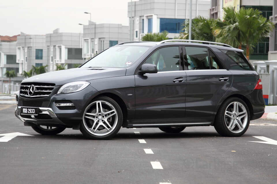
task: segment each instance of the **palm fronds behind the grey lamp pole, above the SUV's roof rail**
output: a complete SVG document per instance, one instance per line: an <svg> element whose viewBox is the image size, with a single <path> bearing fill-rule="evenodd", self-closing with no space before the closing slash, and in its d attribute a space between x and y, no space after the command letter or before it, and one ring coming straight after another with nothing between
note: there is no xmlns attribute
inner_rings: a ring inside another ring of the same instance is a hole
<svg viewBox="0 0 277 184"><path fill-rule="evenodd" d="M192 40L201 40L201 41L215 41L215 37L213 34L213 27L215 22L213 19L206 19L202 16L197 16L192 19ZM189 20L183 22L182 29L183 32L180 33L180 39L188 39L189 38Z"/></svg>

